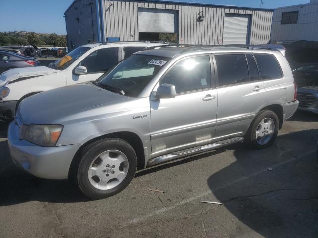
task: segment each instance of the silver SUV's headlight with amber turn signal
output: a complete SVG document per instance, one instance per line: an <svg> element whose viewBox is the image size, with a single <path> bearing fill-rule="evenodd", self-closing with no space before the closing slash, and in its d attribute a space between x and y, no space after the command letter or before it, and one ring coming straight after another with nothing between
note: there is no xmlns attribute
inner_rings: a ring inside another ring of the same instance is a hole
<svg viewBox="0 0 318 238"><path fill-rule="evenodd" d="M40 146L52 147L60 138L62 125L29 125L24 139Z"/></svg>

